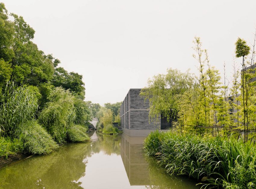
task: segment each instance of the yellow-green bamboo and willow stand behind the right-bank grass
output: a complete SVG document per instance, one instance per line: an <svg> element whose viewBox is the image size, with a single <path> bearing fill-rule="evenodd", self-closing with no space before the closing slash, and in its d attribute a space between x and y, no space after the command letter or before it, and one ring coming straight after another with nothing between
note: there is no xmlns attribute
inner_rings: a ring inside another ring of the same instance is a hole
<svg viewBox="0 0 256 189"><path fill-rule="evenodd" d="M232 79L227 79L225 62L223 76L210 64L208 51L195 37L197 76L170 68L167 74L149 79L142 89L140 95L149 99L151 122L159 119L161 111L162 116L172 117L173 126L181 133L252 139L256 131L255 36L251 46L242 38L235 42Z"/></svg>

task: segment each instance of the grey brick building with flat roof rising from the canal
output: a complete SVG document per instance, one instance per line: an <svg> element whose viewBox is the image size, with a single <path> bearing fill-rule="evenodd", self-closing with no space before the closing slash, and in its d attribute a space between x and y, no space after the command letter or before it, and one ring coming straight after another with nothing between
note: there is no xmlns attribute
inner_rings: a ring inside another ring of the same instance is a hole
<svg viewBox="0 0 256 189"><path fill-rule="evenodd" d="M166 123L160 112L159 121L149 123L149 101L139 96L140 91L141 88L131 88L120 106L121 127L129 136L147 136L151 131L161 129L161 122Z"/></svg>

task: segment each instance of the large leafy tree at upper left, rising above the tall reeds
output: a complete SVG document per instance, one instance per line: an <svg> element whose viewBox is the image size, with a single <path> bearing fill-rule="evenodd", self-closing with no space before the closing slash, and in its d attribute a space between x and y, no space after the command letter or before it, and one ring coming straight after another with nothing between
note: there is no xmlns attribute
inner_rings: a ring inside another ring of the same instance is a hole
<svg viewBox="0 0 256 189"><path fill-rule="evenodd" d="M14 18L13 22L7 20L7 10L4 4L0 3L0 58L11 65L9 79L18 85L38 86L49 82L57 62L30 41L34 38L35 31L23 17L14 13L10 15Z"/></svg>

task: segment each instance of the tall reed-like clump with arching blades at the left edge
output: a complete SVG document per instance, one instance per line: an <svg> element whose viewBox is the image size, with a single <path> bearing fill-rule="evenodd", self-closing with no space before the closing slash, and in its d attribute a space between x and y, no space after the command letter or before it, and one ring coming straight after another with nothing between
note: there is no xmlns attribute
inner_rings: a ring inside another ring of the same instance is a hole
<svg viewBox="0 0 256 189"><path fill-rule="evenodd" d="M17 129L35 116L37 103L36 91L8 82L0 103L0 131L17 137Z"/></svg>

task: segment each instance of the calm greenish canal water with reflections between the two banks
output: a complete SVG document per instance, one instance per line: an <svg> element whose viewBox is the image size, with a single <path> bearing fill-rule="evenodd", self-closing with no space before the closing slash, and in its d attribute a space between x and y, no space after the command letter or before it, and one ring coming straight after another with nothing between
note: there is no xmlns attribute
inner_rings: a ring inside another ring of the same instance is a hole
<svg viewBox="0 0 256 189"><path fill-rule="evenodd" d="M144 138L89 133L92 142L69 143L0 169L0 188L194 189L195 182L168 176L142 153Z"/></svg>

